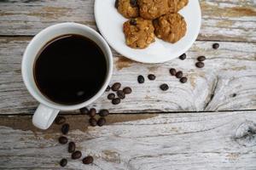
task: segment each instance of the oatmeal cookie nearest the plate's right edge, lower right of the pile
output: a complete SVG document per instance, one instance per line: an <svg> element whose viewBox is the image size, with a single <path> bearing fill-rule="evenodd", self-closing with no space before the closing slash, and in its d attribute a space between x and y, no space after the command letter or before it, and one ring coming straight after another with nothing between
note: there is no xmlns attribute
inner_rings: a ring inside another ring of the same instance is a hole
<svg viewBox="0 0 256 170"><path fill-rule="evenodd" d="M177 42L185 36L187 24L180 14L166 14L154 20L155 35L166 42Z"/></svg>

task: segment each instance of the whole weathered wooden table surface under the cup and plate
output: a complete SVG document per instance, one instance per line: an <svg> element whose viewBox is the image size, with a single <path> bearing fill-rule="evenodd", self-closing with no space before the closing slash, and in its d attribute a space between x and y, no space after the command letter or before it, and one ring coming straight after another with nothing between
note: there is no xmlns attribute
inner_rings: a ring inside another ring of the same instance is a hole
<svg viewBox="0 0 256 170"><path fill-rule="evenodd" d="M193 0L190 0L193 1ZM68 139L93 165L73 161L58 144L60 126L32 126L38 102L28 94L20 61L28 42L55 23L74 21L96 29L93 0L0 0L0 168L172 170L256 169L256 2L201 0L202 26L187 59L157 65L125 59L113 51L113 82L131 86L120 105L102 95L90 107L109 109L108 124L88 127L79 111L62 112ZM218 42L220 48L212 49ZM206 67L195 68L207 56ZM147 56L145 56L147 57ZM169 76L177 68L189 78ZM156 75L137 83L137 76ZM167 82L170 89L160 91Z"/></svg>

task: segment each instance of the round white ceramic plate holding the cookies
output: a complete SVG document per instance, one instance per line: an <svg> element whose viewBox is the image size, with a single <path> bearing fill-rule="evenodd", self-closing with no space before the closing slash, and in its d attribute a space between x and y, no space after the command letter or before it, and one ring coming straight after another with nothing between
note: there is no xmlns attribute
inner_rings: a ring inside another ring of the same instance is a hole
<svg viewBox="0 0 256 170"><path fill-rule="evenodd" d="M172 44L158 38L145 49L129 48L125 44L123 23L127 20L114 8L115 0L96 0L94 13L96 25L109 45L119 54L143 63L161 63L177 58L185 53L195 42L201 27L201 8L198 0L189 0L189 4L179 11L187 22L187 33L178 42Z"/></svg>

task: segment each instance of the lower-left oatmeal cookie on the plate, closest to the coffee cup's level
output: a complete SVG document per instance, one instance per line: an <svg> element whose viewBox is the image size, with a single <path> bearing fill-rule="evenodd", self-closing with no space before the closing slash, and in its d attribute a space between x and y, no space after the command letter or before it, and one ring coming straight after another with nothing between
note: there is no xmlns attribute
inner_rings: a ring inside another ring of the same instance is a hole
<svg viewBox="0 0 256 170"><path fill-rule="evenodd" d="M147 48L154 42L154 26L151 20L136 18L124 23L125 42L131 48Z"/></svg>

